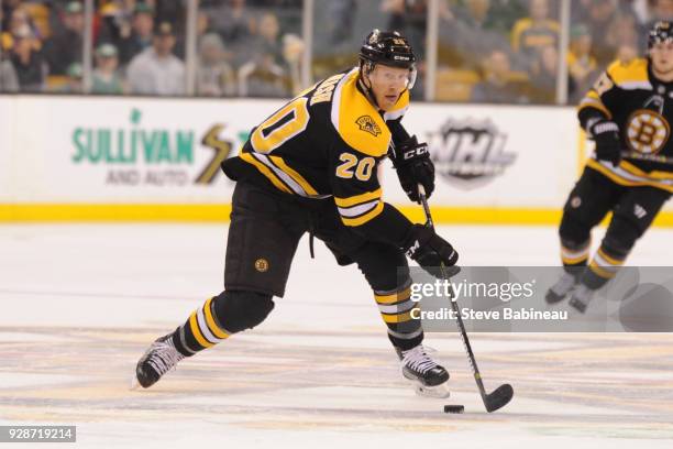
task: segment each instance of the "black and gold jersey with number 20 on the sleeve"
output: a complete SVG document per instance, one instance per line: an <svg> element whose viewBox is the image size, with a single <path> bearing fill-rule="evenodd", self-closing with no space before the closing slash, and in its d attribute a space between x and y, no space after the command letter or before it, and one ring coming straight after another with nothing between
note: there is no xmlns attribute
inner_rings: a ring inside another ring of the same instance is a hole
<svg viewBox="0 0 673 449"><path fill-rule="evenodd" d="M358 86L358 68L299 94L255 127L241 153L222 164L232 179L264 184L302 200L333 200L345 226L401 244L411 223L385 204L378 164L409 106L377 110Z"/></svg>

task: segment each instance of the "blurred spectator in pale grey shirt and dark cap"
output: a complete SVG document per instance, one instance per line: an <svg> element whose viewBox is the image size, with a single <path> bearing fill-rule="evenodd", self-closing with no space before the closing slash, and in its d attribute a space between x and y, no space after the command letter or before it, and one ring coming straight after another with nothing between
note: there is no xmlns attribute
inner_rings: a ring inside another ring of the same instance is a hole
<svg viewBox="0 0 673 449"><path fill-rule="evenodd" d="M173 25L164 22L154 35L152 46L129 64L128 79L133 94L185 94L185 64L172 53L174 46Z"/></svg>

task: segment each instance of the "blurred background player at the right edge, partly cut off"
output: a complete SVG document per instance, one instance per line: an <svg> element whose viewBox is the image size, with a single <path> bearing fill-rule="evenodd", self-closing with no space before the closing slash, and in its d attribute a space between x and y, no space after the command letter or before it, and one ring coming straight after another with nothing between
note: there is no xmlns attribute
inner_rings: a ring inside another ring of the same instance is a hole
<svg viewBox="0 0 673 449"><path fill-rule="evenodd" d="M613 63L580 103L580 122L596 151L563 209L565 274L547 293L548 303L572 293L570 304L584 313L671 196L673 166L622 158L622 153L672 156L672 112L673 22L657 22L649 31L648 57ZM588 262L592 228L608 211L613 219Z"/></svg>

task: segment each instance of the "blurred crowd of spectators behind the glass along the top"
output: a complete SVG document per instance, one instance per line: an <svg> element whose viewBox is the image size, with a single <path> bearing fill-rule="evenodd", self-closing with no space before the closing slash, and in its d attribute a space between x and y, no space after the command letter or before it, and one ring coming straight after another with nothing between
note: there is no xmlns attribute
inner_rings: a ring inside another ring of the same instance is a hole
<svg viewBox="0 0 673 449"><path fill-rule="evenodd" d="M439 0L434 98L552 103L560 0ZM92 72L84 84L84 2L0 2L0 91L186 95L187 0L97 0ZM200 0L195 95L289 97L301 89L302 0ZM429 0L316 0L315 79L354 64L374 26L405 33L427 77ZM567 99L576 102L614 59L642 54L647 30L673 0L573 0Z"/></svg>

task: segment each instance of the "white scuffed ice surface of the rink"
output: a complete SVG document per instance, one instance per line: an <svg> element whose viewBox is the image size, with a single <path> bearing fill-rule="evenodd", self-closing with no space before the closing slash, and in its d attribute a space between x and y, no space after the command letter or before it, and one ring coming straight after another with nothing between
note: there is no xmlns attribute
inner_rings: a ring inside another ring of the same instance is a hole
<svg viewBox="0 0 673 449"><path fill-rule="evenodd" d="M472 335L486 414L455 335L426 342L450 399L401 379L360 272L302 241L285 298L252 332L132 392L137 358L221 291L225 225L0 227L0 425L78 426L81 448L670 448L673 336ZM551 227L443 227L465 265L556 265ZM670 265L651 230L632 265ZM594 239L596 242L599 239ZM464 404L464 415L442 412ZM30 445L27 445L30 446ZM42 446L40 446L42 447ZM434 447L434 446L433 446Z"/></svg>

